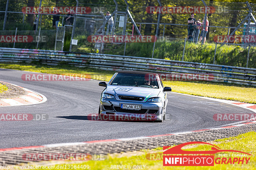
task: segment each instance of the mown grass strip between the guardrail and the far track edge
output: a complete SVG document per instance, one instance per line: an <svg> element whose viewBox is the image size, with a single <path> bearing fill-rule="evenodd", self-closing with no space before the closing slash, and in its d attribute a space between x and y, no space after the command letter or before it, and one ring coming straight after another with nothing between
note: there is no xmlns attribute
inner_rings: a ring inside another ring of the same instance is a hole
<svg viewBox="0 0 256 170"><path fill-rule="evenodd" d="M106 80L103 81L109 81L115 73L114 71L103 71L88 67L79 68L65 64L59 66L47 66L38 63L0 63L0 67L49 74L104 74L104 78L106 78ZM256 103L256 88L252 86L215 83L209 81L163 81L163 84L164 86L171 87L174 92L246 103Z"/></svg>

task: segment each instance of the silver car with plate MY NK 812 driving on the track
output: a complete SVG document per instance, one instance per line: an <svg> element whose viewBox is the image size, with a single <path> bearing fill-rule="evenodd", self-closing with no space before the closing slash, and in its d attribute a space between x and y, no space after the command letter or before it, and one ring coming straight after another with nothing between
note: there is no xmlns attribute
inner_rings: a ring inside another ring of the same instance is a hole
<svg viewBox="0 0 256 170"><path fill-rule="evenodd" d="M118 71L100 97L99 117L112 115L128 121L163 122L166 114L167 91L158 74L141 71ZM113 118L112 118L113 119Z"/></svg>

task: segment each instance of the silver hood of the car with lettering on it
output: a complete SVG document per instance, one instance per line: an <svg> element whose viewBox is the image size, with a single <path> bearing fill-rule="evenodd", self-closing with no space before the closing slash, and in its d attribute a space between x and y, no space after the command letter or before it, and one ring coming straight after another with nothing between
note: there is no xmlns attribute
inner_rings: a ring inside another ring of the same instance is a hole
<svg viewBox="0 0 256 170"><path fill-rule="evenodd" d="M133 87L133 86L108 85L106 92L114 95L116 97L116 100L120 100L118 98L119 95L121 95L121 96L137 96L137 97L144 97L144 98L145 97L146 98L157 97L160 93L160 89L145 88L145 87Z"/></svg>

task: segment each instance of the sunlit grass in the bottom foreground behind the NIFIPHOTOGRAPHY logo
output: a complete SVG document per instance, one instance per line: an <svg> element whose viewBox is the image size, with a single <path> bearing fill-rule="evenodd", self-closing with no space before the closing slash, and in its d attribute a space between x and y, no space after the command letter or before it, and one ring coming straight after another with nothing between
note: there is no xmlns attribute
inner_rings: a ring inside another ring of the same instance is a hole
<svg viewBox="0 0 256 170"><path fill-rule="evenodd" d="M246 152L250 155L246 155L247 158L251 157L248 164L215 164L214 166L163 166L163 160L148 160L146 159L147 153L163 153L162 147L151 149L151 150L141 150L141 151L134 151L134 152L126 152L126 153L119 153L119 154L111 154L108 156L108 159L101 160L101 161L85 161L85 162L76 162L72 163L71 161L67 161L66 164L70 165L89 165L89 169L94 170L107 170L110 169L111 165L146 165L145 169L154 169L154 170L162 170L162 169L237 169L237 170L244 170L244 169L256 169L256 132L248 132L241 134L237 137L225 138L215 140L209 143L218 146L220 149L223 150L238 150L242 152ZM205 151L211 150L209 145L189 145L188 147L185 146L182 148L183 150L188 151ZM235 152L221 152L221 154L232 154ZM218 158L219 153L214 154L214 158ZM236 153L235 153L236 154ZM220 157L221 158L221 157ZM227 157L229 158L229 157ZM52 162L53 163L53 162ZM45 163L47 165L47 162ZM59 164L60 165L60 164ZM64 165L64 164L61 164ZM56 167L57 165L55 165ZM57 170L57 168L55 168ZM60 169L60 168L59 168ZM112 168L113 169L113 168ZM132 168L133 169L133 168Z"/></svg>

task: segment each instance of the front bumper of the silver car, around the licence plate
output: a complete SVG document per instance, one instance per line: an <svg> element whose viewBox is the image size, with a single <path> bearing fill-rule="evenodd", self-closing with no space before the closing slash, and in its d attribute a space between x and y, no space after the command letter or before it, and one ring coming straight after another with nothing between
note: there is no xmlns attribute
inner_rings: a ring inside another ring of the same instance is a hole
<svg viewBox="0 0 256 170"><path fill-rule="evenodd" d="M121 104L140 105L141 110L125 110L121 109ZM121 117L141 117L133 120L155 121L163 119L164 102L136 102L136 101L119 101L116 99L100 98L100 114L115 115ZM121 119L122 120L122 119Z"/></svg>

